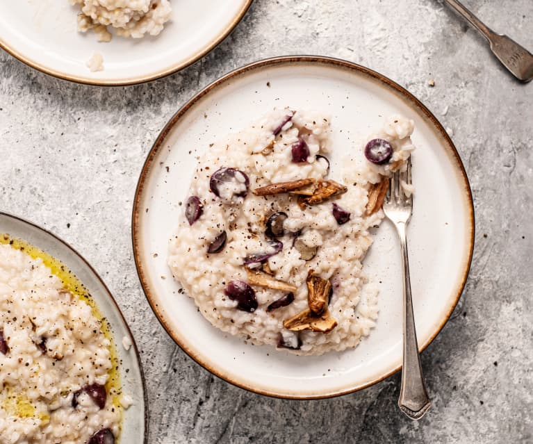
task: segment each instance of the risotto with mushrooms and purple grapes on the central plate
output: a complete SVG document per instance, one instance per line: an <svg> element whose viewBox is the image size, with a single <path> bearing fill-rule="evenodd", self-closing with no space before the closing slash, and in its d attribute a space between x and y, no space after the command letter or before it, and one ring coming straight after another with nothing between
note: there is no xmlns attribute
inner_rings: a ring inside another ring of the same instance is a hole
<svg viewBox="0 0 533 444"><path fill-rule="evenodd" d="M198 161L168 263L215 327L296 354L356 347L378 315L363 272L413 122L393 116L334 171L329 117L274 110ZM412 192L407 185L406 192Z"/></svg>

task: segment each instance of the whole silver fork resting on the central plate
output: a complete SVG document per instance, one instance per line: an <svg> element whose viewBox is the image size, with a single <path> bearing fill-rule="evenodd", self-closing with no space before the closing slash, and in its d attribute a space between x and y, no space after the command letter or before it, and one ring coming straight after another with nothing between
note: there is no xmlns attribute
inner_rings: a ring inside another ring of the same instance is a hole
<svg viewBox="0 0 533 444"><path fill-rule="evenodd" d="M420 419L427 412L431 402L424 384L418 343L416 341L413 300L411 298L411 279L409 277L409 257L407 255L407 222L411 219L413 197L405 194L401 182L409 185L411 179L411 158L407 161L405 172L395 172L391 177L383 211L388 220L393 222L400 237L402 263L404 265L404 356L402 368L402 388L398 406L411 419Z"/></svg>

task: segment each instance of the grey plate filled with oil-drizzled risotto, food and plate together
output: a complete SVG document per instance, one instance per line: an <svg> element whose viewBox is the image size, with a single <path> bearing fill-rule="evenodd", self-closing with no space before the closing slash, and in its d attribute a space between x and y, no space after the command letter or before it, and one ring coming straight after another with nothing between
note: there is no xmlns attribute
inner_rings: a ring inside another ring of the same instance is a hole
<svg viewBox="0 0 533 444"><path fill-rule="evenodd" d="M104 284L29 222L0 213L0 230L0 443L145 443L138 351Z"/></svg>

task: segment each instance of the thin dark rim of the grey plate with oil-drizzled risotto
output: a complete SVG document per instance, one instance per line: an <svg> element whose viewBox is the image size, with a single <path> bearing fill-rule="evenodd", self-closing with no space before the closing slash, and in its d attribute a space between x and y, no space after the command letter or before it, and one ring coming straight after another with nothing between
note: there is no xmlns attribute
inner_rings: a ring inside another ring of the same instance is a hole
<svg viewBox="0 0 533 444"><path fill-rule="evenodd" d="M48 229L40 227L40 225L36 224L35 222L31 222L30 220L27 220L24 217L20 217L20 216L11 214L11 213L7 213L6 211L0 211L0 215L6 216L6 217L10 217L11 219L13 219L13 220L15 220L15 221L17 221L19 223L22 222L22 224L29 225L30 227L33 227L34 229L37 229L38 231L42 231L42 233L46 234L47 236L50 236L51 238L53 238L54 240L56 240L57 242L62 244L64 247L67 247L67 249L69 249L72 253L74 253L75 256L78 256L78 258L81 259L81 262L88 268L88 270L90 270L90 272L92 274L95 275L97 281L99 281L101 286L106 291L108 297L110 298L110 301L115 306L115 309L116 309L117 313L119 314L120 318L122 319L122 322L124 322L124 326L126 327L126 331L129 333L129 336L131 337L131 345L133 346L133 350L135 351L135 354L136 354L136 360L137 360L137 363L139 365L140 379L141 379L141 383L142 383L142 399L143 399L144 407L145 407L145 409L144 409L145 410L145 433L144 433L142 442L144 444L148 444L149 404L148 404L148 393L147 393L146 381L145 381L145 371L142 368L142 361L140 360L140 352L139 352L139 349L137 347L135 336L133 336L133 334L131 333L131 329L129 328L129 324L126 322L126 318L124 318L124 314L122 313L122 310L120 309L120 306L117 304L117 301L116 301L115 297L113 296L113 293L111 293L109 288L108 288L108 286L106 286L106 283L104 282L104 279L101 279L100 275L97 273L95 268L93 268L92 265L90 265L90 263L74 247L72 247L72 245L70 245L67 241L63 240L62 238L60 238L56 234L52 233ZM6 233L6 234L10 235L10 233ZM25 239L22 239L22 240L25 240ZM35 247L40 248L38 245L35 245ZM55 256L53 256L53 257L56 258ZM68 264L65 264L65 265L67 265L67 267L68 267ZM116 344L117 340L116 340L116 338L114 338L114 339L115 339L115 345L117 345ZM122 436L120 436L118 442L119 443L122 442Z"/></svg>

